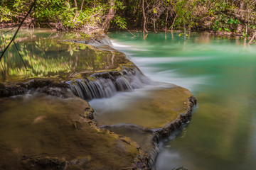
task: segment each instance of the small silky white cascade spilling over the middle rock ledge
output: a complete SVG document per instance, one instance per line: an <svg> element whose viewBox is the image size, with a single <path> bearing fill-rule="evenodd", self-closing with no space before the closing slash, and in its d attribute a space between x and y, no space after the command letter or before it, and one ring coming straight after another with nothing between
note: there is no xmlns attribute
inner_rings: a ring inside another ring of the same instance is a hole
<svg viewBox="0 0 256 170"><path fill-rule="evenodd" d="M75 96L85 100L110 98L118 91L133 91L142 88L148 79L137 69L124 69L120 72L95 73L89 79L76 79L67 84Z"/></svg>

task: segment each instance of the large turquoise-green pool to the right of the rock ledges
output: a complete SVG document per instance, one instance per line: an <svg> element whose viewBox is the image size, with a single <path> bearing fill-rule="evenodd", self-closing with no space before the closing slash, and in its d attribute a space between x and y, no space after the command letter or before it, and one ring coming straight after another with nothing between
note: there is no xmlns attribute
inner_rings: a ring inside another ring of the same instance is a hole
<svg viewBox="0 0 256 170"><path fill-rule="evenodd" d="M256 47L207 33L111 33L156 81L189 89L198 100L191 123L159 144L156 169L255 169Z"/></svg>

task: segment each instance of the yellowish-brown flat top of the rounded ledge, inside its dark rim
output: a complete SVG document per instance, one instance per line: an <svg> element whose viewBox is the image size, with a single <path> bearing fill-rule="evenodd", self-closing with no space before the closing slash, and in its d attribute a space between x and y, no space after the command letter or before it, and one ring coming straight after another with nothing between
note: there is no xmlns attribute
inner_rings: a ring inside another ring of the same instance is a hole
<svg viewBox="0 0 256 170"><path fill-rule="evenodd" d="M148 91L146 96L129 101L127 107L132 108L100 113L96 115L96 120L100 125L126 123L149 129L163 128L187 112L191 96L187 89L179 86Z"/></svg>

